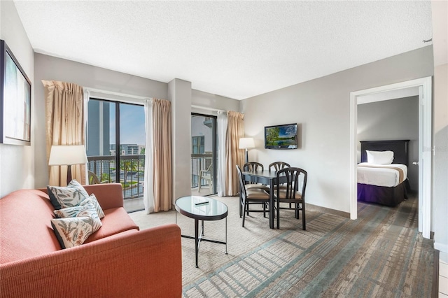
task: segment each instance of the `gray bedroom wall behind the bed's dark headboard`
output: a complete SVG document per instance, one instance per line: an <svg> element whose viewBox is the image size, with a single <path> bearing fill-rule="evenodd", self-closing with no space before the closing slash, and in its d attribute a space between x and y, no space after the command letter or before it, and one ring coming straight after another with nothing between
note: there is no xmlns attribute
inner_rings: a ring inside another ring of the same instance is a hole
<svg viewBox="0 0 448 298"><path fill-rule="evenodd" d="M410 140L407 176L419 190L419 97L358 104L358 141L379 140Z"/></svg>

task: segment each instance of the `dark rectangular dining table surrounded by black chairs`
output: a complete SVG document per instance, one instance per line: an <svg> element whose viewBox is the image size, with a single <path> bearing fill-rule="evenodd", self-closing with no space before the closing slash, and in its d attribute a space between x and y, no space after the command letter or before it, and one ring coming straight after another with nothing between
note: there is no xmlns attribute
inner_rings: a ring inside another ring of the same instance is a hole
<svg viewBox="0 0 448 298"><path fill-rule="evenodd" d="M269 228L274 229L274 185L286 183L286 176L280 176L277 178L276 171L243 171L243 179L250 183L262 183L264 185L269 185ZM239 215L243 213L241 206L241 192L239 194Z"/></svg>

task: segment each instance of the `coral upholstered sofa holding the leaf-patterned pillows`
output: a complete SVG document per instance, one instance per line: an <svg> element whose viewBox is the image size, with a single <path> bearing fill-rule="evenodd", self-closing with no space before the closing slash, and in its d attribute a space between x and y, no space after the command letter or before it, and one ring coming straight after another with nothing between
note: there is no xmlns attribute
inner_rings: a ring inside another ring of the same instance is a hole
<svg viewBox="0 0 448 298"><path fill-rule="evenodd" d="M119 183L85 185L105 217L84 244L62 249L46 190L0 199L0 297L181 297L181 231L139 231Z"/></svg>

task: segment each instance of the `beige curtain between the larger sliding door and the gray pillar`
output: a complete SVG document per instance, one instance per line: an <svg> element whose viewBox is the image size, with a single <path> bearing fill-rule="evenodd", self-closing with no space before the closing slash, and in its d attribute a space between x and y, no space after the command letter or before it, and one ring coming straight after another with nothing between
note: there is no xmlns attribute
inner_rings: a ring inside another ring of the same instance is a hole
<svg viewBox="0 0 448 298"><path fill-rule="evenodd" d="M154 212L172 208L171 101L153 99Z"/></svg>

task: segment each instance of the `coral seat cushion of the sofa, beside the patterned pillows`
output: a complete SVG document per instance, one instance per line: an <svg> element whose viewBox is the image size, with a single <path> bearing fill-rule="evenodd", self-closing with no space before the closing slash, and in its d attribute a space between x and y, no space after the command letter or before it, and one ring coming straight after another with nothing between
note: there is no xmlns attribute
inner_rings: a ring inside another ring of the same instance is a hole
<svg viewBox="0 0 448 298"><path fill-rule="evenodd" d="M105 216L102 219L102 227L97 232L90 235L85 243L128 231L130 229L139 230L139 226L135 224L123 207L104 210L104 214Z"/></svg>

